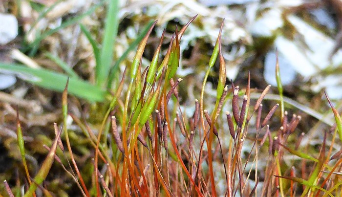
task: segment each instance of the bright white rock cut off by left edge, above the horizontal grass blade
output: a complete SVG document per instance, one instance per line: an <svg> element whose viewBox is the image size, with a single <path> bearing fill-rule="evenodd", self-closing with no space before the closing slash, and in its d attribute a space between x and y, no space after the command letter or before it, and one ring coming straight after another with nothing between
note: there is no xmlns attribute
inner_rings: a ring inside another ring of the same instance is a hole
<svg viewBox="0 0 342 197"><path fill-rule="evenodd" d="M7 44L18 35L18 21L11 14L0 13L0 44Z"/></svg>

